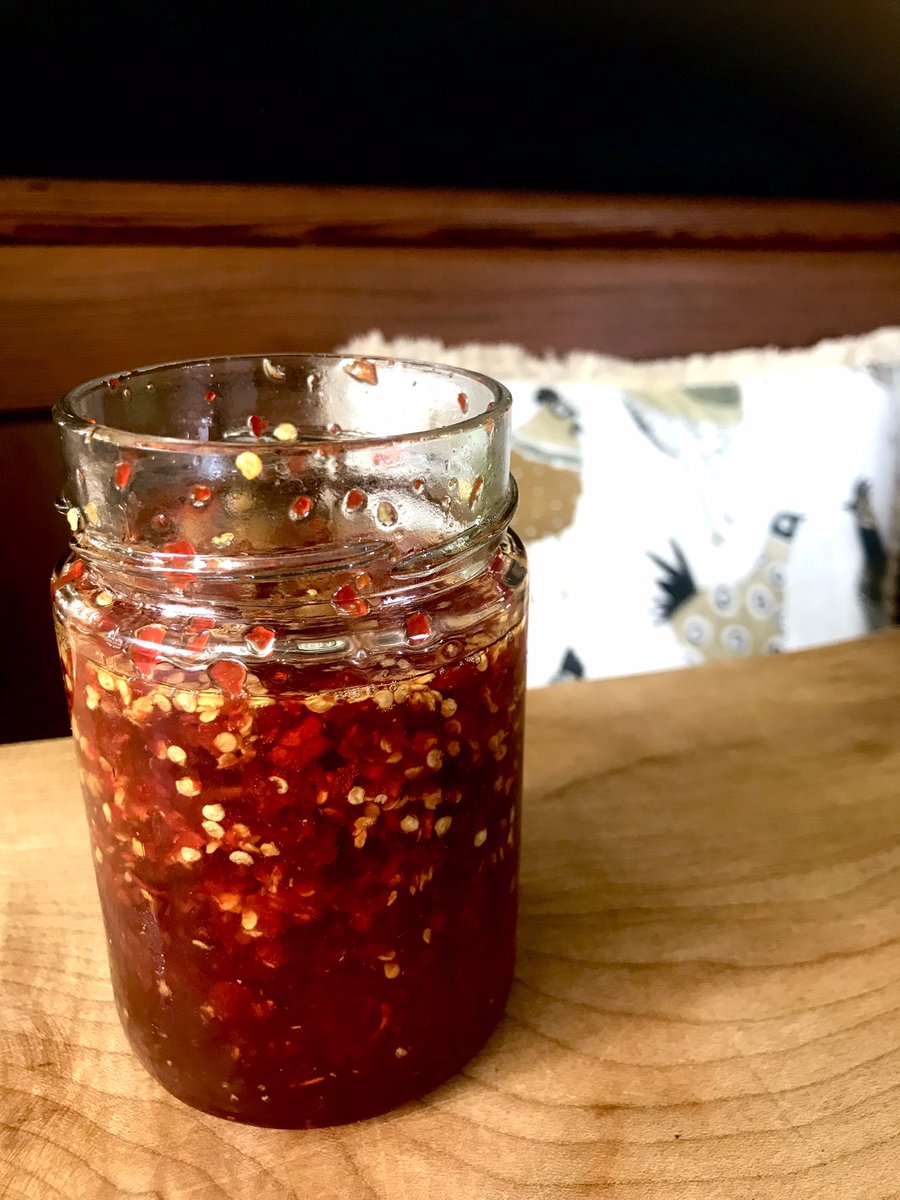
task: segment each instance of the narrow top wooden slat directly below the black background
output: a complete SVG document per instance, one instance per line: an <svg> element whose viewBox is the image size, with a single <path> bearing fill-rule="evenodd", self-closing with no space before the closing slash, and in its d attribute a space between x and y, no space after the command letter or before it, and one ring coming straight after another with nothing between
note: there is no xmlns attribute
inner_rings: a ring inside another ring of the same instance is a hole
<svg viewBox="0 0 900 1200"><path fill-rule="evenodd" d="M7 179L0 241L896 250L900 204Z"/></svg>

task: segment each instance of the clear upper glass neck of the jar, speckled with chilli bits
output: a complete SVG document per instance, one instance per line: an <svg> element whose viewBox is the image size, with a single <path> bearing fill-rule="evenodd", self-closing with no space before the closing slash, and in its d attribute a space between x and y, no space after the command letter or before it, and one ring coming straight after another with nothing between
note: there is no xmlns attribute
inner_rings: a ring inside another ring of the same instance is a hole
<svg viewBox="0 0 900 1200"><path fill-rule="evenodd" d="M479 541L514 504L509 392L452 367L174 364L85 384L55 415L77 541L136 581L164 578L167 556L191 560L194 587L388 576Z"/></svg>

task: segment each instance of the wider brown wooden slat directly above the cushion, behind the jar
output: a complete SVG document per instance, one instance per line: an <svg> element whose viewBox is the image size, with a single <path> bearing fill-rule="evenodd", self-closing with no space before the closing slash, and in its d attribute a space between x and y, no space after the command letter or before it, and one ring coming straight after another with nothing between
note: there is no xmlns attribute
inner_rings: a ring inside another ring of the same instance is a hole
<svg viewBox="0 0 900 1200"><path fill-rule="evenodd" d="M0 407L107 371L329 349L373 326L636 358L804 344L900 316L900 252L0 247Z"/></svg>

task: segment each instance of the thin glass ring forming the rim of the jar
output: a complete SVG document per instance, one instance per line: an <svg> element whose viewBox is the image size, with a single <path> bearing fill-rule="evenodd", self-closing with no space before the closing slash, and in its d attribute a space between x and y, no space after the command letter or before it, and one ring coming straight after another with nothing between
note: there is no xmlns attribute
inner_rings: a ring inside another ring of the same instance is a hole
<svg viewBox="0 0 900 1200"><path fill-rule="evenodd" d="M90 431L91 440L103 442L113 446L121 446L122 449L158 449L161 451L175 454L239 454L242 449L246 449L246 442L244 440L221 438L200 440L198 438L173 437L169 434L142 433L134 430L122 428L120 425L109 425L102 421L92 420L79 413L77 410L77 404L90 396L106 394L109 388L125 388L128 386L131 382L149 382L154 373L176 371L179 368L187 371L188 368L215 368L216 366L223 367L226 365L230 366L235 364L246 366L259 365L260 367L264 367L265 364L271 362L293 366L302 364L310 370L317 364L332 367L340 365L347 368L354 362L360 361L373 364L376 367L382 365L385 367L400 366L403 368L420 370L431 376L445 376L449 382L470 380L491 394L491 415L494 418L505 415L512 404L512 396L503 383L497 379L492 379L490 376L482 374L481 372L457 367L452 364L428 362L419 359L388 358L386 355L376 354L352 355L292 350L284 354L227 354L198 359L175 359L168 362L157 362L150 366L136 367L119 373L113 372L97 376L96 378L78 384L76 388L65 392L53 406L53 418L58 425L70 430L82 433ZM403 430L392 433L367 434L346 430L330 433L328 430L324 430L322 434L311 434L304 431L302 437L292 443L292 449L296 450L298 448L302 448L305 445L323 446L342 442L348 443L354 449L359 450L377 450L380 446L396 444L397 440L402 440L404 444L408 443L412 445L424 440L436 440L443 436L456 436L469 430L475 431L484 425L484 421L485 413L475 412L469 415L461 413L461 420L458 421L436 425L431 428ZM277 451L283 449L284 446L280 446L277 443L266 446L266 450Z"/></svg>

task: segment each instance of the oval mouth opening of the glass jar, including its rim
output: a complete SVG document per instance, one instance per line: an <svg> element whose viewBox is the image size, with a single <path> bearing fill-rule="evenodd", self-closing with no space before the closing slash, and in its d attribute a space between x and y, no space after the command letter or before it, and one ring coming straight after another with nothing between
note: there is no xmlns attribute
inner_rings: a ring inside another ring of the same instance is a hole
<svg viewBox="0 0 900 1200"><path fill-rule="evenodd" d="M511 402L502 383L445 364L287 353L101 376L64 395L53 415L64 428L124 450L238 455L252 445L280 456L329 445L377 451L474 433L503 419Z"/></svg>

